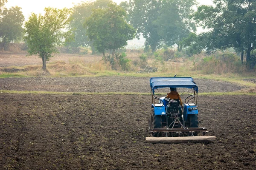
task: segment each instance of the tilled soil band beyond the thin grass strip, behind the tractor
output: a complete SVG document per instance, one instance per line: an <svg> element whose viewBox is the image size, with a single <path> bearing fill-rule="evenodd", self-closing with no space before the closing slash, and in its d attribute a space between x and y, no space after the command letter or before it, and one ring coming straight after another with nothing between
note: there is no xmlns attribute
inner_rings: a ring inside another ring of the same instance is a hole
<svg viewBox="0 0 256 170"><path fill-rule="evenodd" d="M63 77L63 78L5 78L0 90L58 91L58 92L140 92L150 93L148 77ZM239 91L242 86L209 79L195 79L201 92ZM161 89L157 92L168 92ZM183 92L184 89L178 89Z"/></svg>

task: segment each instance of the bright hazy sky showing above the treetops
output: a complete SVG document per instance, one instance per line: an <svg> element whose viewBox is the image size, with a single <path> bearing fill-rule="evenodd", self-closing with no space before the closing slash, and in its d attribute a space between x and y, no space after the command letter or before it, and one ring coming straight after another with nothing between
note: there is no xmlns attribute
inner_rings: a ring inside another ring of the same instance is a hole
<svg viewBox="0 0 256 170"><path fill-rule="evenodd" d="M71 8L74 4L80 3L83 0L8 0L6 7L19 6L22 8L25 20L28 19L29 15L34 12L35 14L42 14L45 7L52 8ZM86 1L86 0L84 0ZM119 4L125 0L113 0ZM198 0L199 4L209 5L212 4L212 0Z"/></svg>

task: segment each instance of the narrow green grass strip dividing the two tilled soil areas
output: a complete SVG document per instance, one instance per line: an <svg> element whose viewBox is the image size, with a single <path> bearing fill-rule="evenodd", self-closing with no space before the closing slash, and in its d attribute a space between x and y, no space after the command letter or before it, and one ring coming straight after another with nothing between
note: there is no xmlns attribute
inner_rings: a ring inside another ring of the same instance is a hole
<svg viewBox="0 0 256 170"><path fill-rule="evenodd" d="M8 91L0 90L0 94L61 94L61 95L151 95L151 93L137 93L137 92L53 92L53 91ZM183 93L190 94L190 93ZM241 91L234 92L207 92L198 93L198 96L223 96L223 95L249 95L256 96L256 93L247 93ZM155 96L166 96L166 93L156 93Z"/></svg>

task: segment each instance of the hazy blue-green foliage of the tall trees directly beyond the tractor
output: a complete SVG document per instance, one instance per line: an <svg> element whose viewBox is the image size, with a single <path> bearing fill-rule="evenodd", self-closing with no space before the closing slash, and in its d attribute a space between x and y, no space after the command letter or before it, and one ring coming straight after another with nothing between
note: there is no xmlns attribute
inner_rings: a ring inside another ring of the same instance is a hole
<svg viewBox="0 0 256 170"><path fill-rule="evenodd" d="M176 44L181 50L180 41L195 31L194 5L195 0L131 0L129 18L137 37L142 33L145 47L150 46L152 52L163 44Z"/></svg>

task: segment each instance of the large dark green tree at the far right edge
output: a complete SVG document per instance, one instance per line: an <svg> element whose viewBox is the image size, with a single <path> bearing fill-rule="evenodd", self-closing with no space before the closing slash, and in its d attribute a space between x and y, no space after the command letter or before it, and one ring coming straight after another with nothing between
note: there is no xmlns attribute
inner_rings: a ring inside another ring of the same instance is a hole
<svg viewBox="0 0 256 170"><path fill-rule="evenodd" d="M250 62L250 52L256 44L256 1L215 0L215 6L199 6L195 20L210 31L203 33L208 51L236 48L243 61Z"/></svg>

